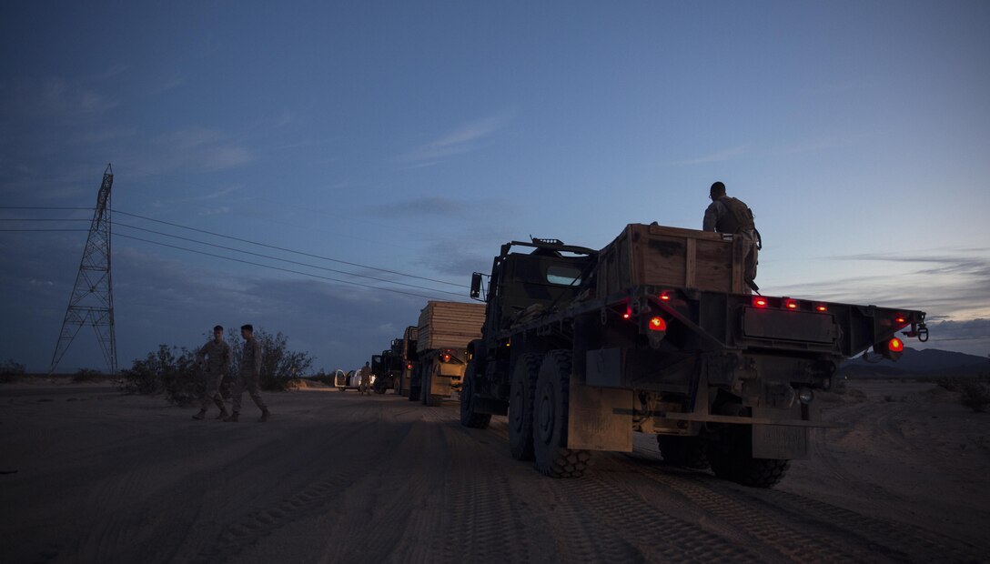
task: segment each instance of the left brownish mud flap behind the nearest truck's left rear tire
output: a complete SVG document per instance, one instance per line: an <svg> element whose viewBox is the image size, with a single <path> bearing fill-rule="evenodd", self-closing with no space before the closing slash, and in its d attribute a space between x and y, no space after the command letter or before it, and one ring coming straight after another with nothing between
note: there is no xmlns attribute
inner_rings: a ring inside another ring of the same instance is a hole
<svg viewBox="0 0 990 564"><path fill-rule="evenodd" d="M570 381L567 448L633 451L633 391ZM624 415L625 414L625 415Z"/></svg>

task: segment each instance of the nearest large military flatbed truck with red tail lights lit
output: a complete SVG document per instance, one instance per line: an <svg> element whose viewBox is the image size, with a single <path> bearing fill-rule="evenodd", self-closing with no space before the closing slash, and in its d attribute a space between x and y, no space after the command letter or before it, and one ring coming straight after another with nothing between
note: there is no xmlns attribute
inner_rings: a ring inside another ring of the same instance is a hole
<svg viewBox="0 0 990 564"><path fill-rule="evenodd" d="M657 435L663 458L770 487L826 426L816 393L868 348L896 359L925 313L746 293L743 241L630 225L602 250L511 241L495 257L460 423L508 415L509 446L551 477ZM528 252L525 252L528 251ZM479 298L480 297L480 298Z"/></svg>

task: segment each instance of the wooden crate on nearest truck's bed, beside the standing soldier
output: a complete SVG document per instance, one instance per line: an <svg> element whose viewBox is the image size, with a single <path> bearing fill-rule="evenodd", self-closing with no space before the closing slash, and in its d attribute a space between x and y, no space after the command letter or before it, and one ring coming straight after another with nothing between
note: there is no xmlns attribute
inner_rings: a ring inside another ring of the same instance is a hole
<svg viewBox="0 0 990 564"><path fill-rule="evenodd" d="M635 286L742 294L742 238L630 224L598 256L598 296Z"/></svg>

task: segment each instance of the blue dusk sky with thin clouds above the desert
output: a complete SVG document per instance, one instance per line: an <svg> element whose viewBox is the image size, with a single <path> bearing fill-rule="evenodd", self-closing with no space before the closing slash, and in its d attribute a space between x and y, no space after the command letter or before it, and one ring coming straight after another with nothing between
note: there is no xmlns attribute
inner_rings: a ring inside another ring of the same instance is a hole
<svg viewBox="0 0 990 564"><path fill-rule="evenodd" d="M716 180L764 294L922 310L908 346L985 356L988 24L982 0L3 2L0 361L49 369L108 163L122 368L217 324L353 368L502 243L700 229ZM106 368L87 328L81 367Z"/></svg>

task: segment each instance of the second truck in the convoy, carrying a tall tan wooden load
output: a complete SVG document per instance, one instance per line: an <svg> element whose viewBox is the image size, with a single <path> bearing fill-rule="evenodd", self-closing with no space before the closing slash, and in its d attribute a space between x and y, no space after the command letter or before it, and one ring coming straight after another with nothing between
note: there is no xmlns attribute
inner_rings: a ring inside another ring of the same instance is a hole
<svg viewBox="0 0 990 564"><path fill-rule="evenodd" d="M467 363L467 343L481 336L485 307L462 302L427 302L417 327L417 370L409 399L439 406L459 391Z"/></svg>

